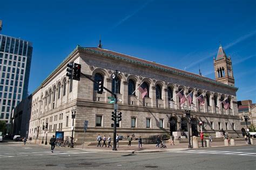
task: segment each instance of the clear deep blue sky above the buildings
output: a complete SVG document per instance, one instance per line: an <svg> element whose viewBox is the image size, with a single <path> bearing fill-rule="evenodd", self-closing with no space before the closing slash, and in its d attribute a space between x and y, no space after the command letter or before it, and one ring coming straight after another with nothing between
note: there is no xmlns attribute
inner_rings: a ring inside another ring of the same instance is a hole
<svg viewBox="0 0 256 170"><path fill-rule="evenodd" d="M103 48L214 79L219 42L238 100L256 102L256 1L2 1L2 34L33 43L32 93L76 47Z"/></svg>

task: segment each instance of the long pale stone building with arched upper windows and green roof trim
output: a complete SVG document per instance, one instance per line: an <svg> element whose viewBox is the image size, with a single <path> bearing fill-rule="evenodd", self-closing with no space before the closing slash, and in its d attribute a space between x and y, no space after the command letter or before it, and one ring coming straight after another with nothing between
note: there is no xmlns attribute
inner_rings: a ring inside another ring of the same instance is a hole
<svg viewBox="0 0 256 170"><path fill-rule="evenodd" d="M101 47L101 46L100 46ZM76 109L75 140L83 139L84 121L89 121L86 139L94 139L97 134L113 136L109 103L111 94L103 91L97 94L97 85L81 76L80 81L68 80L66 65L70 62L82 65L82 73L92 79L104 81L104 87L116 88L118 111L122 112L117 133L126 136L149 137L156 134L187 136L188 119L185 110L191 110L191 133L198 136L203 121L204 132L215 136L224 129L230 136L240 136L240 119L237 109L237 88L207 77L185 72L155 62L120 54L103 48L76 49L42 82L32 94L29 135L42 139L56 131L64 131L71 136L71 110ZM217 61L218 59L216 59ZM118 82L114 86L112 74L119 70ZM218 69L217 69L218 70ZM138 87L145 83L147 94L143 98ZM193 92L193 103L180 104L176 95L180 90L188 95ZM135 93L133 93L135 91ZM204 105L197 97L203 94ZM224 109L223 101L228 98L231 108ZM48 129L42 126L48 123Z"/></svg>

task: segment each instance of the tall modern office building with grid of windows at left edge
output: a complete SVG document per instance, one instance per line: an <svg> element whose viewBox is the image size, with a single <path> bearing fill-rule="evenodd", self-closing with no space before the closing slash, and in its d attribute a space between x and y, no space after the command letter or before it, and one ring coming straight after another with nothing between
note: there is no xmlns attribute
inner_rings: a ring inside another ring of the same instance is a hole
<svg viewBox="0 0 256 170"><path fill-rule="evenodd" d="M0 34L0 121L10 123L11 110L28 96L32 44Z"/></svg>

